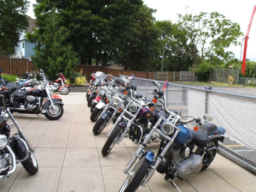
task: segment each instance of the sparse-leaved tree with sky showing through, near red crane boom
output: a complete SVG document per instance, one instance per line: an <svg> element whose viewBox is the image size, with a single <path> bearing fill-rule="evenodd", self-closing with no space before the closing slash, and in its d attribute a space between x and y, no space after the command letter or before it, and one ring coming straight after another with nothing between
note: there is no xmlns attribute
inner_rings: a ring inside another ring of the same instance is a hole
<svg viewBox="0 0 256 192"><path fill-rule="evenodd" d="M225 61L233 57L232 52L225 51L230 45L238 45L240 26L225 19L217 12L201 12L199 15L179 14L181 29L187 31L193 51L188 52L193 59L193 67L201 64L210 55L221 57Z"/></svg>

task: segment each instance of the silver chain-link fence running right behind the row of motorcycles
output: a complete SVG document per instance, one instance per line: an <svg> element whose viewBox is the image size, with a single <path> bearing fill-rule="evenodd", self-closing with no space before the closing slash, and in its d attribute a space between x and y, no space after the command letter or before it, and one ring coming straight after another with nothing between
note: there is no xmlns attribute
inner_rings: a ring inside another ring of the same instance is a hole
<svg viewBox="0 0 256 192"><path fill-rule="evenodd" d="M152 81L135 77L130 80L130 84L137 86L138 93L152 99L153 96L146 93L154 91ZM163 87L164 81L158 82ZM168 84L165 96L167 107L178 111L182 116L201 119L204 114L213 116L212 123L223 127L225 134L230 136L229 139L224 138L224 143L219 143L219 152L256 173L256 96L211 91L174 83Z"/></svg>

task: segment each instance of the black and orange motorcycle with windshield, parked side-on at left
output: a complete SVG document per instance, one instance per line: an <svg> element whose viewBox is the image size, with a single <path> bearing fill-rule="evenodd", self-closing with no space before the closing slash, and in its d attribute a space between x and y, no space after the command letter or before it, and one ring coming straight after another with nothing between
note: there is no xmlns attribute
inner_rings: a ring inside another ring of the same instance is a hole
<svg viewBox="0 0 256 192"><path fill-rule="evenodd" d="M58 120L64 113L64 104L61 97L52 95L49 82L43 70L40 69L40 71L39 75L43 81L38 82L39 85L29 91L16 91L21 88L19 85L12 87L4 96L4 104L11 111L28 114L42 113L49 120Z"/></svg>

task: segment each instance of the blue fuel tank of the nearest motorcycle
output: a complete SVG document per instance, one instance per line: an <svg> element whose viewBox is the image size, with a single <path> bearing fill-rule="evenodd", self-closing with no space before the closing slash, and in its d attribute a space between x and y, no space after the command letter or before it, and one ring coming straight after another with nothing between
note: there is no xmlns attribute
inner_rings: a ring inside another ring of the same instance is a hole
<svg viewBox="0 0 256 192"><path fill-rule="evenodd" d="M185 128L185 126L184 125L177 126L181 129L181 131L178 133L177 137L174 139L174 142L178 144L186 144L186 143L189 143L194 138L192 131L189 128Z"/></svg>

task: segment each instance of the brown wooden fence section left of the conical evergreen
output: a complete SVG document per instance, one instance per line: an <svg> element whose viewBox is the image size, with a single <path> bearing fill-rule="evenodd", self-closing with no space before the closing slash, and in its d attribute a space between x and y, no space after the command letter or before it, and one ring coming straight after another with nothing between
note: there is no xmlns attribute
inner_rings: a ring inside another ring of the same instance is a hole
<svg viewBox="0 0 256 192"><path fill-rule="evenodd" d="M0 58L0 68L7 75L22 75L36 70L35 64L28 59Z"/></svg>

